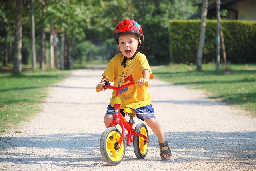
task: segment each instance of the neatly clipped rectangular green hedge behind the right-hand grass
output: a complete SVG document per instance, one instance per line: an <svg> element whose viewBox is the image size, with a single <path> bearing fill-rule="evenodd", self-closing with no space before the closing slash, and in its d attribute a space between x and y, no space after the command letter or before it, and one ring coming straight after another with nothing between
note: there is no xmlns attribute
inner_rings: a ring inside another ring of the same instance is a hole
<svg viewBox="0 0 256 171"><path fill-rule="evenodd" d="M200 20L170 20L171 62L196 62L200 22ZM233 64L256 62L256 21L222 20L221 26L227 61ZM204 63L216 60L216 32L217 21L207 20Z"/></svg>

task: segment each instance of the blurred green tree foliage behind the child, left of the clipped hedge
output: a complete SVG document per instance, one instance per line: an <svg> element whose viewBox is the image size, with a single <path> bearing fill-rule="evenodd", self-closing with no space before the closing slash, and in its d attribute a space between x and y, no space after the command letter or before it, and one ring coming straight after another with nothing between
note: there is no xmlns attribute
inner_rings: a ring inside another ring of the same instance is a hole
<svg viewBox="0 0 256 171"><path fill-rule="evenodd" d="M168 26L170 19L199 18L201 0L44 0L46 18L42 20L42 0L34 0L36 22L36 56L40 60L40 35L46 24L46 49L50 51L50 30L56 29L59 40L65 36L72 48L71 57L79 63L90 60L107 62L118 52L113 29L124 19L136 20L143 29L145 41L140 52L151 64L166 63L169 58ZM0 0L0 58L4 55L4 38L14 44L15 1ZM31 64L30 0L23 0L22 61ZM95 53L98 48L98 53ZM60 42L57 44L60 58ZM89 52L88 52L89 51ZM9 52L8 52L9 53ZM8 62L12 62L11 53ZM2 61L2 59L0 59ZM46 62L49 58L46 56ZM60 66L60 65L59 65Z"/></svg>

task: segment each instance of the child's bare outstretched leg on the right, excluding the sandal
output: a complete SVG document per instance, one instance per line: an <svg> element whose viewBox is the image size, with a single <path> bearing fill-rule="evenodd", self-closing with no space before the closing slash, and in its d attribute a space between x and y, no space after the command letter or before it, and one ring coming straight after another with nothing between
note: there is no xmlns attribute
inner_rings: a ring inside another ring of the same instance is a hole
<svg viewBox="0 0 256 171"><path fill-rule="evenodd" d="M156 137L158 138L159 143L164 143L166 138L164 137L164 132L160 123L156 120L156 118L143 118L146 124L152 129ZM167 150L168 147L162 147L163 150ZM168 154L164 154L164 158L169 157Z"/></svg>

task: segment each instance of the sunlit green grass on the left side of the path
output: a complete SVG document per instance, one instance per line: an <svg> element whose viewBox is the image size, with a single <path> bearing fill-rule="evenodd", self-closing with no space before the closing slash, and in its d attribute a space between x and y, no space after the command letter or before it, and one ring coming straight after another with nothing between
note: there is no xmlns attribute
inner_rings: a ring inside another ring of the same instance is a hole
<svg viewBox="0 0 256 171"><path fill-rule="evenodd" d="M70 75L68 70L26 70L13 77L0 73L0 133L41 111L47 88Z"/></svg>

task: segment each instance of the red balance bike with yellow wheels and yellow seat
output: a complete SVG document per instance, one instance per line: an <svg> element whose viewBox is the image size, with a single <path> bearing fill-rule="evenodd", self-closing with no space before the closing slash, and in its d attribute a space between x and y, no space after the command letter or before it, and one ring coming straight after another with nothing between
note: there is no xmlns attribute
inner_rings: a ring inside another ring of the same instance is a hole
<svg viewBox="0 0 256 171"><path fill-rule="evenodd" d="M116 90L116 98L114 99L114 115L113 121L108 125L108 128L102 133L100 138L100 152L108 165L114 166L121 163L124 158L126 145L130 146L133 142L134 153L138 159L144 159L148 153L148 129L144 123L138 123L135 129L132 128L134 124L133 118L136 117L134 109L128 107L124 108L125 115L130 117L129 122L120 113L121 99L120 91L131 85L138 85L136 82L130 82L121 87L114 87L110 82L105 81L104 89ZM149 82L146 81L144 86L148 87ZM97 91L97 88L96 88ZM98 91L97 91L98 92ZM113 125L120 125L121 132L112 127ZM125 129L128 131L126 138L126 145L124 142Z"/></svg>

